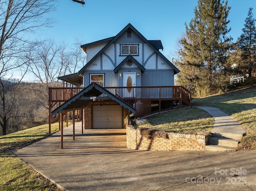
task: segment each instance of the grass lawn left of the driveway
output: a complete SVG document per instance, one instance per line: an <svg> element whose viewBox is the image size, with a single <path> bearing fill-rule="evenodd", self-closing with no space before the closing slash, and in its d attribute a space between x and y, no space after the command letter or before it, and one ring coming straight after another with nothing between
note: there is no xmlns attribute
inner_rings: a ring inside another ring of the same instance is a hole
<svg viewBox="0 0 256 191"><path fill-rule="evenodd" d="M65 123L66 124L66 123ZM71 123L69 123L71 124ZM34 171L20 158L6 151L22 148L48 136L48 124L0 136L0 190L1 191L59 191L52 182ZM51 126L52 133L59 124Z"/></svg>

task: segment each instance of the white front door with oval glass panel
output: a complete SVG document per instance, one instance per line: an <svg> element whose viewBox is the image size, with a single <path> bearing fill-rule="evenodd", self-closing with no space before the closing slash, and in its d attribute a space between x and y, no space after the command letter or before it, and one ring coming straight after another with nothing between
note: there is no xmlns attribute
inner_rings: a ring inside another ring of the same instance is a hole
<svg viewBox="0 0 256 191"><path fill-rule="evenodd" d="M124 89L124 97L134 97L135 96L135 84L136 84L136 73L124 73L124 87L127 87Z"/></svg>

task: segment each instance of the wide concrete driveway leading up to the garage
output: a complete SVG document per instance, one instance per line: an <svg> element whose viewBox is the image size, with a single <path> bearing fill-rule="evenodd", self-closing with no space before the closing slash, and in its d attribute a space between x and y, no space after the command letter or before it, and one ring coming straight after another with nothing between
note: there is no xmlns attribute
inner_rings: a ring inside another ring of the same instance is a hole
<svg viewBox="0 0 256 191"><path fill-rule="evenodd" d="M69 191L256 190L256 151L138 151L124 130L85 130L76 123L17 150L16 156Z"/></svg>

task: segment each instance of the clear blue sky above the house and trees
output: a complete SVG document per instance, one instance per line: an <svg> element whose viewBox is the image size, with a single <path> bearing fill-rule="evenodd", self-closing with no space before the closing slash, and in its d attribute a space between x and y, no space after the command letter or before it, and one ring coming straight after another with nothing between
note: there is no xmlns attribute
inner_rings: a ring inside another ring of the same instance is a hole
<svg viewBox="0 0 256 191"><path fill-rule="evenodd" d="M115 36L131 23L146 39L160 39L162 53L172 58L176 41L185 32L184 23L194 18L197 0L84 0L82 6L72 0L59 0L57 11L50 14L57 22L39 37L82 44ZM256 18L256 0L228 0L228 19L234 41L242 33L250 7Z"/></svg>

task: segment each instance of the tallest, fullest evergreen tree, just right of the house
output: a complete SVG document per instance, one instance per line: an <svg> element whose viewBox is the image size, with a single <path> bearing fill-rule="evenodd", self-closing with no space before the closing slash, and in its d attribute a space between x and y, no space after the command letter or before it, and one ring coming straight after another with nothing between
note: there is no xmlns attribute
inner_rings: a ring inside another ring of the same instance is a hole
<svg viewBox="0 0 256 191"><path fill-rule="evenodd" d="M179 41L178 83L197 96L214 93L225 83L222 71L232 40L227 37L229 10L228 1L198 0L195 17L189 26L185 23L186 37Z"/></svg>

